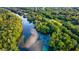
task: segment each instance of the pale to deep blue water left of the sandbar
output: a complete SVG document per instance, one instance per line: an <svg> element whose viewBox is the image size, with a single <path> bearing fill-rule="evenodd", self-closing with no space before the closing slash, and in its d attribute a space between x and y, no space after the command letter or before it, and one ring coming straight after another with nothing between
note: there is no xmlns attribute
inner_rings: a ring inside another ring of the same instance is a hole
<svg viewBox="0 0 79 59"><path fill-rule="evenodd" d="M34 25L27 21L27 18L22 17L23 36L27 39L31 33L31 29L34 29Z"/></svg>

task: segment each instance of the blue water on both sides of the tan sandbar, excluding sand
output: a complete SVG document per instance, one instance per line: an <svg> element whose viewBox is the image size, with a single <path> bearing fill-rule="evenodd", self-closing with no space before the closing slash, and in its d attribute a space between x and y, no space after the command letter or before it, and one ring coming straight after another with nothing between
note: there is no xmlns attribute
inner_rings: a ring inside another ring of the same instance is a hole
<svg viewBox="0 0 79 59"><path fill-rule="evenodd" d="M22 26L23 26L23 33L22 33L23 42L22 43L24 43L31 36L31 29L34 29L34 24L30 23L29 21L27 21L27 18L23 18L23 17L21 17L21 18L22 18ZM48 51L48 48L49 48L48 47L48 41L49 41L49 39L50 39L49 35L44 35L44 34L38 33L37 41L39 43L35 44L36 49L38 49L39 46L40 46L40 49L42 51ZM19 49L21 51L25 51L26 50L25 48L22 48L21 46L19 46Z"/></svg>

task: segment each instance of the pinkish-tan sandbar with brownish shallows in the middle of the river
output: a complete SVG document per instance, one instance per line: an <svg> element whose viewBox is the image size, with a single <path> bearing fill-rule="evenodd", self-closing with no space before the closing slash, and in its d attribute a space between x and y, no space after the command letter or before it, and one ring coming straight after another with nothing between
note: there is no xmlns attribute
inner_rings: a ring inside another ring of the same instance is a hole
<svg viewBox="0 0 79 59"><path fill-rule="evenodd" d="M16 13L13 13L13 14L16 14ZM19 37L20 40L21 40L21 35ZM18 45L20 44L19 39L17 40ZM29 48L29 50L31 50L31 51L41 51L41 44L40 44L40 41L37 41L37 39L38 39L38 34L37 34L36 30L31 29L31 36L26 40L25 43L22 42L23 44L21 47L26 48L26 49Z"/></svg>

